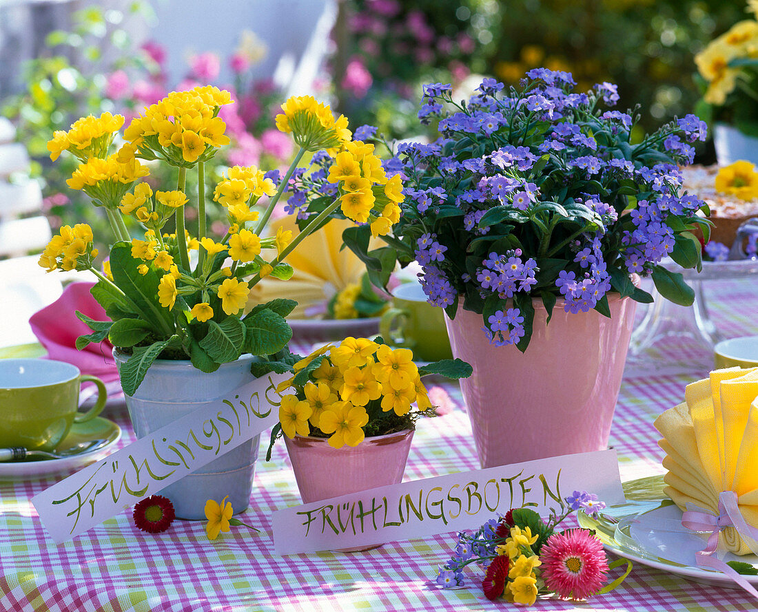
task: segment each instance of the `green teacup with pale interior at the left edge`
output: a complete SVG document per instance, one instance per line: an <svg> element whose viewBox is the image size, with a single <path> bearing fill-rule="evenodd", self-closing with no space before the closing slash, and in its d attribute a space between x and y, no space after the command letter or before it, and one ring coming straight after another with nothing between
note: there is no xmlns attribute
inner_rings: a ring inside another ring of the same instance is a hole
<svg viewBox="0 0 758 612"><path fill-rule="evenodd" d="M89 411L79 412L79 390L95 383L98 398ZM95 376L49 359L0 359L0 448L23 446L52 451L73 423L95 418L108 392Z"/></svg>

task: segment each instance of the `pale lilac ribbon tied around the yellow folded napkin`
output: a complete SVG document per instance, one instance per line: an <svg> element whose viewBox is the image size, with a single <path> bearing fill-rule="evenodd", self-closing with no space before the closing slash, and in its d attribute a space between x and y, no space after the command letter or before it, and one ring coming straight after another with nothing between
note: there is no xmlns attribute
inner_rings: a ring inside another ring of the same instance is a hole
<svg viewBox="0 0 758 612"><path fill-rule="evenodd" d="M733 570L725 561L713 557L719 545L719 532L725 527L733 526L751 551L758 554L758 529L747 524L737 501L734 491L719 493L719 516L711 514L704 508L687 504L688 511L681 515L681 524L687 529L699 532L710 532L706 548L698 551L695 557L698 567L709 567L729 576L745 591L758 599L758 591L740 573Z"/></svg>

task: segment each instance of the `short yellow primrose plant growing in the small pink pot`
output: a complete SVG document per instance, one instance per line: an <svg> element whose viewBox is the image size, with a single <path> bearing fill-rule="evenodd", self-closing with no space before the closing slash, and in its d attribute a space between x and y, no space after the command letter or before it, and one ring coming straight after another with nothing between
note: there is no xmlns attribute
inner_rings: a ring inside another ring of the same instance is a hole
<svg viewBox="0 0 758 612"><path fill-rule="evenodd" d="M297 361L293 376L277 387L277 437L328 438L329 445L357 446L366 436L384 436L413 429L421 416L434 416L434 406L421 376L471 376L471 366L446 359L418 367L409 348L391 348L377 338L349 336Z"/></svg>

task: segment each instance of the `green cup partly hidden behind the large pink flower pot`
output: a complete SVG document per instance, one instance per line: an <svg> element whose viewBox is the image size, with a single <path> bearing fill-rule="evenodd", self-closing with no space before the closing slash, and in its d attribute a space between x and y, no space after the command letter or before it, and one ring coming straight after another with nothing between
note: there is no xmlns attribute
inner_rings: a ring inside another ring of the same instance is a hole
<svg viewBox="0 0 758 612"><path fill-rule="evenodd" d="M444 311L426 301L421 285L403 283L393 289L393 306L379 323L387 344L410 348L418 361L452 359Z"/></svg>

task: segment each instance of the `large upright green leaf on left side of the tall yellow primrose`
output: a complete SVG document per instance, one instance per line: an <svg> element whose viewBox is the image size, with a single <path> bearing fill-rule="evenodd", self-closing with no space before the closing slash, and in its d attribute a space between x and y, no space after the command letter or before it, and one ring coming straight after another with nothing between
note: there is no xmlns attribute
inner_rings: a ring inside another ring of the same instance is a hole
<svg viewBox="0 0 758 612"><path fill-rule="evenodd" d="M111 249L114 283L138 308L140 318L168 335L174 329L174 322L168 308L163 308L158 301L158 273L149 268L146 274L140 274L138 266L138 260L132 258L130 245L119 242Z"/></svg>

